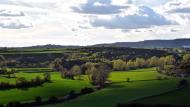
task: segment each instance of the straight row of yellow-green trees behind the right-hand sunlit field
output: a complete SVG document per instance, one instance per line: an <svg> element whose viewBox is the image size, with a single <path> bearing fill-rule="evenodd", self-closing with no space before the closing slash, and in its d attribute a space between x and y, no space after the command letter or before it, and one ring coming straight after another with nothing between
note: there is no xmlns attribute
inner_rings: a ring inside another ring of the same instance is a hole
<svg viewBox="0 0 190 107"><path fill-rule="evenodd" d="M113 60L113 70L131 70L137 68L158 67L163 65L171 65L176 61L172 55L166 57L153 56L148 59L136 58L135 60L123 61L121 59Z"/></svg>

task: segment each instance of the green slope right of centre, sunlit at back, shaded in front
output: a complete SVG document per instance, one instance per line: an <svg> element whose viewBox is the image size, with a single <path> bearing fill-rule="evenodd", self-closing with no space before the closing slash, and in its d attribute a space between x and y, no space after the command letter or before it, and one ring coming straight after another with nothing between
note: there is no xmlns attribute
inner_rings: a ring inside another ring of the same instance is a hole
<svg viewBox="0 0 190 107"><path fill-rule="evenodd" d="M117 103L131 102L137 98L162 93L176 88L177 82L179 81L177 78L154 80L160 74L151 71L153 71L153 69L135 70L127 73L113 72L110 79L118 83L101 91L81 96L73 101L47 107L115 107ZM127 77L130 77L133 82L119 83L119 81L125 81ZM170 97L175 96L171 95Z"/></svg>

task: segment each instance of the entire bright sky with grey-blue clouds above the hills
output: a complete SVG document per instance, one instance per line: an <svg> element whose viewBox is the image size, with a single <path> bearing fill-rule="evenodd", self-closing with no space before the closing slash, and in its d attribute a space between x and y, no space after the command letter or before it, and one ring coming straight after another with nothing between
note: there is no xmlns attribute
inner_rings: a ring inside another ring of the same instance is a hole
<svg viewBox="0 0 190 107"><path fill-rule="evenodd" d="M0 46L190 38L190 0L0 0Z"/></svg>

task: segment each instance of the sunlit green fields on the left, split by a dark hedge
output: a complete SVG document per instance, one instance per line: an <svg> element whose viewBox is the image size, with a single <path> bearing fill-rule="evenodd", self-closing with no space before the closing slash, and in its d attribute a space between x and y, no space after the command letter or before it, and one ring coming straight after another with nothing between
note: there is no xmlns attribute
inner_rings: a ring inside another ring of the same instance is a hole
<svg viewBox="0 0 190 107"><path fill-rule="evenodd" d="M26 77L27 79L34 78L37 75L43 75L43 73L17 73L17 77ZM15 83L15 78L7 79L0 77L0 81L9 81ZM28 101L34 100L36 96L48 98L49 96L63 96L71 90L80 90L90 84L87 81L82 80L65 80L60 78L59 73L52 73L53 83L45 83L43 86L29 88L26 90L11 89L0 90L0 104L5 104L9 101Z"/></svg>

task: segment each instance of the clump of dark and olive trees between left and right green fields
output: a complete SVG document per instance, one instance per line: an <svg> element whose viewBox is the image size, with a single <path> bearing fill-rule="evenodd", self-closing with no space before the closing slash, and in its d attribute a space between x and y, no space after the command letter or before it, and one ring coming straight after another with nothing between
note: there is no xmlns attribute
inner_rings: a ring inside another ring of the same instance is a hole
<svg viewBox="0 0 190 107"><path fill-rule="evenodd" d="M82 74L88 75L89 81L93 85L105 85L105 81L109 75L109 67L104 63L87 62L81 65L73 65L64 59L54 61L53 68L61 73L62 78L81 79Z"/></svg>

